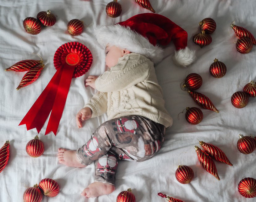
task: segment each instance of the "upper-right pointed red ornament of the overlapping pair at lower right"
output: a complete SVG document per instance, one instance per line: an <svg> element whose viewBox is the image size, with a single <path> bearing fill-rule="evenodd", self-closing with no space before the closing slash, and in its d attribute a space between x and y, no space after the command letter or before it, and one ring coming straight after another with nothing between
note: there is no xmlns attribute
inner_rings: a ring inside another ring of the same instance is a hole
<svg viewBox="0 0 256 202"><path fill-rule="evenodd" d="M228 160L228 157L220 148L203 141L199 141L199 144L203 147L204 151L207 152L215 160L233 166L233 164Z"/></svg>

